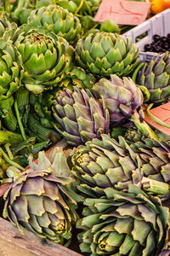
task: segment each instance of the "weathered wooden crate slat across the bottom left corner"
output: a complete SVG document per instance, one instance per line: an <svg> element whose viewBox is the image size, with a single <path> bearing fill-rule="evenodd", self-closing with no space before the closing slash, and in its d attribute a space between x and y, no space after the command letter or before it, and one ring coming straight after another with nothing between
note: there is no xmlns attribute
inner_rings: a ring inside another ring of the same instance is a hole
<svg viewBox="0 0 170 256"><path fill-rule="evenodd" d="M82 256L30 231L20 235L13 224L0 218L0 256Z"/></svg>

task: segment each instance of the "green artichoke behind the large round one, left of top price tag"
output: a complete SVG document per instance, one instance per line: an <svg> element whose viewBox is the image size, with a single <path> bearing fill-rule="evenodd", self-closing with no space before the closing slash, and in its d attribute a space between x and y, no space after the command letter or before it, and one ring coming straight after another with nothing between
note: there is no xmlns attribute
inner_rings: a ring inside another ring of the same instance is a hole
<svg viewBox="0 0 170 256"><path fill-rule="evenodd" d="M28 21L65 38L70 44L77 42L82 29L80 20L58 5L32 10Z"/></svg>

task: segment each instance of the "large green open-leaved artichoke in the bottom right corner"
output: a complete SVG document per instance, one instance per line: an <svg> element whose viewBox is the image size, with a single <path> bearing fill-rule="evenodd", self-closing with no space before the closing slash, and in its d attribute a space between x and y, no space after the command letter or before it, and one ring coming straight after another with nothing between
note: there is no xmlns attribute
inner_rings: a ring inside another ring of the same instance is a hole
<svg viewBox="0 0 170 256"><path fill-rule="evenodd" d="M128 193L105 189L105 197L87 199L77 223L82 253L155 256L166 241L168 208L135 185Z"/></svg>

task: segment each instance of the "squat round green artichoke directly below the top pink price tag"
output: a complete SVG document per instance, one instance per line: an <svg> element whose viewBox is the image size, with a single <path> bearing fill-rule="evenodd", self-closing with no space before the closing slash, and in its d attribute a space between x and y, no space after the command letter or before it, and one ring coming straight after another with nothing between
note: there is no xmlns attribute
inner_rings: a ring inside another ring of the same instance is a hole
<svg viewBox="0 0 170 256"><path fill-rule="evenodd" d="M139 49L130 39L110 32L90 33L81 38L76 47L77 62L99 77L113 73L126 76L139 63Z"/></svg>

